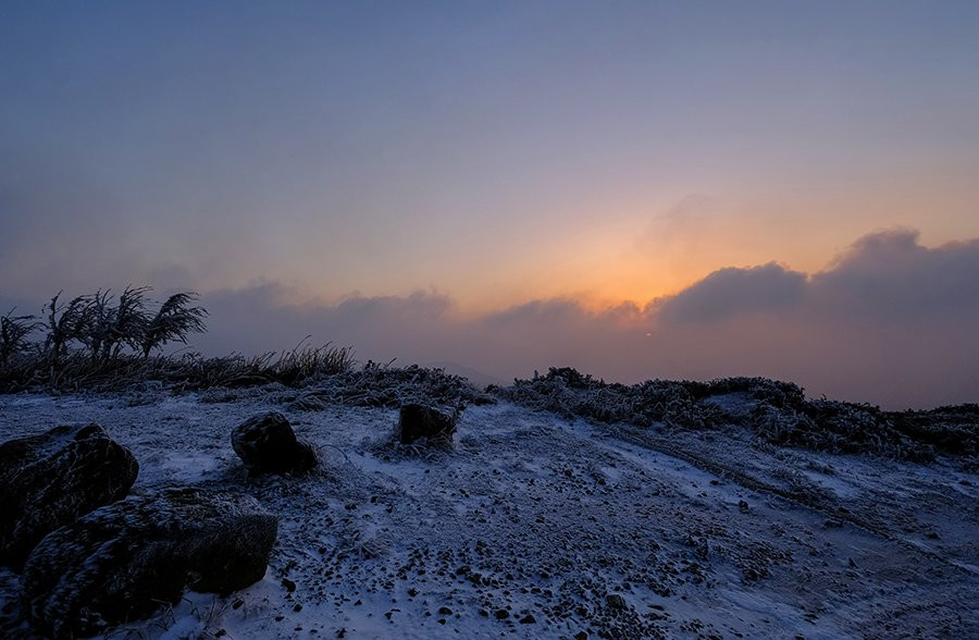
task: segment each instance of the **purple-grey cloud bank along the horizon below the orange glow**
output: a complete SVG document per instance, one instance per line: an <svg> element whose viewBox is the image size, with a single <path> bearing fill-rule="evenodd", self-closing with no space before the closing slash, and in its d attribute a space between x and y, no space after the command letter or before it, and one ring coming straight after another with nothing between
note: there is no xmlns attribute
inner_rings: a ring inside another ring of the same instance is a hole
<svg viewBox="0 0 979 640"><path fill-rule="evenodd" d="M478 317L451 298L289 305L263 283L206 296L208 353L290 348L306 335L360 360L453 364L509 381L571 366L607 380L766 376L889 408L979 401L979 239L937 248L867 235L826 270L716 271L677 295L602 311L540 299ZM451 367L450 367L451 368Z"/></svg>

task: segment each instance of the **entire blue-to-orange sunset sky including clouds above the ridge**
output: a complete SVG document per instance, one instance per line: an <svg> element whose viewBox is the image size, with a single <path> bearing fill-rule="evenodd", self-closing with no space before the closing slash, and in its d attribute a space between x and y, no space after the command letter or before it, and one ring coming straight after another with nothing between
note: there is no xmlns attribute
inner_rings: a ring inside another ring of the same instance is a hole
<svg viewBox="0 0 979 640"><path fill-rule="evenodd" d="M0 2L0 312L979 401L979 3Z"/></svg>

